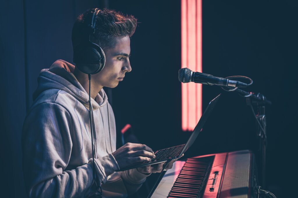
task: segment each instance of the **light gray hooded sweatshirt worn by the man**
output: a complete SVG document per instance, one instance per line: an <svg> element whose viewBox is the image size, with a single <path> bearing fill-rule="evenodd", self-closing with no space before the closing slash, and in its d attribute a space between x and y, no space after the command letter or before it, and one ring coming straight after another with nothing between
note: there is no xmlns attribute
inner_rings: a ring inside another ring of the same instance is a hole
<svg viewBox="0 0 298 198"><path fill-rule="evenodd" d="M90 197L93 182L89 95L73 75L75 66L57 60L41 70L34 103L22 133L23 171L29 197ZM104 197L126 197L148 175L119 169L114 113L101 89L91 98L97 183Z"/></svg>

